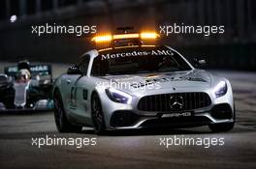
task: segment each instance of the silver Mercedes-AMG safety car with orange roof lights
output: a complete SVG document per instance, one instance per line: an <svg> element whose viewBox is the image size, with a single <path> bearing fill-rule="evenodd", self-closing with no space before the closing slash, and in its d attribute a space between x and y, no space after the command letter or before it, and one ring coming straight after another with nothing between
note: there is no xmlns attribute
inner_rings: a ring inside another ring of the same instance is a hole
<svg viewBox="0 0 256 169"><path fill-rule="evenodd" d="M172 47L144 44L155 38L155 33L93 38L109 47L85 52L53 84L57 129L232 129L235 105L229 80L195 69Z"/></svg>

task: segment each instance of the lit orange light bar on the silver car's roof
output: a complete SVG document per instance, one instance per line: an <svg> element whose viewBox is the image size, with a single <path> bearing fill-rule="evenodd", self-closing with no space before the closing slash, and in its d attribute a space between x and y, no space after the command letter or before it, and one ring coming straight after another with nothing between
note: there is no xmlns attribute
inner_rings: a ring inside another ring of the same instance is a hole
<svg viewBox="0 0 256 169"><path fill-rule="evenodd" d="M142 39L142 40L155 40L159 37L155 32L142 32L141 34L118 34L118 35L104 35L96 36L92 38L93 42L111 42L112 40L122 40L122 39Z"/></svg>

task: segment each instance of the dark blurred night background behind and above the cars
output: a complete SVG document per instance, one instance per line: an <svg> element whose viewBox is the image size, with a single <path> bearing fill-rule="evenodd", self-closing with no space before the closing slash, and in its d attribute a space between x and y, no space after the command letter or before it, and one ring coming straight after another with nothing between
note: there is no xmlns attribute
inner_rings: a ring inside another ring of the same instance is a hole
<svg viewBox="0 0 256 169"><path fill-rule="evenodd" d="M166 43L187 57L205 57L210 69L256 70L256 1L254 0L2 0L0 61L75 63L91 48L89 36L31 34L31 25L119 26L136 30L159 25L224 25L225 33L172 35ZM17 20L10 18L16 14Z"/></svg>

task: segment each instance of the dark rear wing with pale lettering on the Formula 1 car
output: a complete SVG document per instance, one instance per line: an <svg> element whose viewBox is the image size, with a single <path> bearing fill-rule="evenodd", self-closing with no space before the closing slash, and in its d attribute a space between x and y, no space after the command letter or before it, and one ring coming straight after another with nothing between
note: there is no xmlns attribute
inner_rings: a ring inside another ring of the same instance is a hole
<svg viewBox="0 0 256 169"><path fill-rule="evenodd" d="M52 69L51 65L49 64L44 64L44 65L31 65L29 67L31 75L40 75L40 76L45 76L49 75L50 76L50 81L52 81ZM6 67L5 68L5 74L8 76L16 76L16 72L18 71L17 66L11 66L11 67Z"/></svg>

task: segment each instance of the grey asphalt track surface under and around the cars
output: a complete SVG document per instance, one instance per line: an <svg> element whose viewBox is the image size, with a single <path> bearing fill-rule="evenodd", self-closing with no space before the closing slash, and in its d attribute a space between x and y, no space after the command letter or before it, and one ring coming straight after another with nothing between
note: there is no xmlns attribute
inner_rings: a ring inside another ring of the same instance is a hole
<svg viewBox="0 0 256 169"><path fill-rule="evenodd" d="M54 75L65 68L54 66ZM256 73L214 72L229 78L233 86L237 124L229 132L211 133L208 127L193 127L97 136L92 128L84 127L80 133L58 133L52 112L5 113L0 115L0 168L256 168ZM78 144L40 148L33 144L32 138L47 136L73 139L73 143L77 139ZM161 144L161 139L175 137L222 139L224 145ZM81 148L80 139L85 140Z"/></svg>

